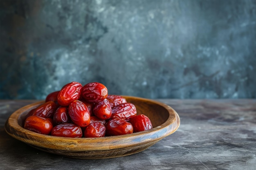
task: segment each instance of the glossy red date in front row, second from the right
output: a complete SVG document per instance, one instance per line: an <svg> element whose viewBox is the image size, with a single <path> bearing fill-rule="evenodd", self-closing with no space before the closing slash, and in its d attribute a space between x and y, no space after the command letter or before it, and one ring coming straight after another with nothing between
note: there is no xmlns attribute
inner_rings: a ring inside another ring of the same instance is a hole
<svg viewBox="0 0 256 170"><path fill-rule="evenodd" d="M124 119L114 118L110 119L106 124L106 135L117 136L126 135L133 132L132 124Z"/></svg>

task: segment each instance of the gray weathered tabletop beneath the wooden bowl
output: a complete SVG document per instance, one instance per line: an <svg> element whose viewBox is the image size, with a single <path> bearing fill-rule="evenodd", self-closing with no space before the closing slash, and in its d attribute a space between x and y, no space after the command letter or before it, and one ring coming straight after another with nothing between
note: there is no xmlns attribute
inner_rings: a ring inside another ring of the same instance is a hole
<svg viewBox="0 0 256 170"><path fill-rule="evenodd" d="M4 130L35 100L0 100L0 169L255 170L256 99L158 99L180 115L180 128L143 152L113 159L71 159L36 150Z"/></svg>

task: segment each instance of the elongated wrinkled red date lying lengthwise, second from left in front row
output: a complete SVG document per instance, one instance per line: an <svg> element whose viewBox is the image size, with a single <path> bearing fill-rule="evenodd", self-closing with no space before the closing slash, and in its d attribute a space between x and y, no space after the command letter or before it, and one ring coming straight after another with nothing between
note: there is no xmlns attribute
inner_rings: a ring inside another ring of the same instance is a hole
<svg viewBox="0 0 256 170"><path fill-rule="evenodd" d="M58 137L82 137L83 132L80 126L65 123L54 126L54 128L52 128L51 135Z"/></svg>

